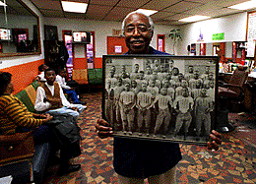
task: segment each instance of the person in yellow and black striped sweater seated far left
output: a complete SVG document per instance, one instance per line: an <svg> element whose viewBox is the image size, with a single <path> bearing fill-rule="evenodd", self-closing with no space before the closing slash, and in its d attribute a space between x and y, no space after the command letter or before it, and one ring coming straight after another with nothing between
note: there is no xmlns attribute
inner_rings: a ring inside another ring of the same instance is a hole
<svg viewBox="0 0 256 184"><path fill-rule="evenodd" d="M32 127L38 127L33 132L34 145L49 142L55 138L44 123L50 121L52 116L49 114L35 114L30 112L23 102L12 95L14 92L11 83L12 75L8 72L0 73L0 132L4 135L15 134L17 132L26 132L32 130ZM80 146L77 145L80 151ZM73 148L71 149L74 152ZM77 153L80 154L80 153ZM68 148L61 149L61 165L58 174L66 174L80 169L80 164L70 164L69 160L73 155Z"/></svg>

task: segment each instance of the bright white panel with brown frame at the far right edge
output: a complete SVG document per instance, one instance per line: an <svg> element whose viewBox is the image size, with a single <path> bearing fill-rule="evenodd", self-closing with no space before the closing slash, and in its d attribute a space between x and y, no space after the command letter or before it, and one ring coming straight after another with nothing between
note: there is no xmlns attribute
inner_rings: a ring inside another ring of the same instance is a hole
<svg viewBox="0 0 256 184"><path fill-rule="evenodd" d="M254 57L256 41L256 11L247 13L246 40L247 57Z"/></svg>

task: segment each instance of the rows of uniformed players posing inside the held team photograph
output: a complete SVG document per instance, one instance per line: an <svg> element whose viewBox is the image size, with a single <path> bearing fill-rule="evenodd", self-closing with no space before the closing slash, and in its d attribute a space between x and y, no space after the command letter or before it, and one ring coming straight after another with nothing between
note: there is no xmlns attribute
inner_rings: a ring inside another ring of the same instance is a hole
<svg viewBox="0 0 256 184"><path fill-rule="evenodd" d="M139 64L134 64L131 73L122 65L118 74L114 65L108 67L110 69L105 80L104 113L113 128L113 122L121 120L124 134L139 132L141 136L142 132L146 132L149 136L152 128L152 109L158 105L153 127L154 137L163 125L162 137L165 138L172 111L177 114L173 136L179 133L183 125L186 139L192 115L195 117L197 137L201 135L202 125L205 135L210 135L211 112L215 101L215 79L214 74L210 72L210 66L204 66L202 74L194 71L192 65L188 66L188 72L185 74L180 73L176 67L170 68L163 64L147 65L145 72L139 70ZM133 131L135 120L138 128Z"/></svg>

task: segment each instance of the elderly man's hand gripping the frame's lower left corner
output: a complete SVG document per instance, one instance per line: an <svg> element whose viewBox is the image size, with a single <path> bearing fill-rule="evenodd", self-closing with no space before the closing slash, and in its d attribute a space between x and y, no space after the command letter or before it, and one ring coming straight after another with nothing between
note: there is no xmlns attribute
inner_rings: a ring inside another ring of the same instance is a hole
<svg viewBox="0 0 256 184"><path fill-rule="evenodd" d="M113 131L112 128L109 127L109 124L103 119L96 120L96 134L99 138L107 138L112 136Z"/></svg>

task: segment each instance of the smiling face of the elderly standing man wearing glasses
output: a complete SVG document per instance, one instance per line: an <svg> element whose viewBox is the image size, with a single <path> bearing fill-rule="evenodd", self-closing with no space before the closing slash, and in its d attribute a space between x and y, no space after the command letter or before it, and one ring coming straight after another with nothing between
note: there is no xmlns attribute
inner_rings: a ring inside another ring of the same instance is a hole
<svg viewBox="0 0 256 184"><path fill-rule="evenodd" d="M153 36L148 18L137 13L130 15L124 24L124 36L130 53L147 53Z"/></svg>

